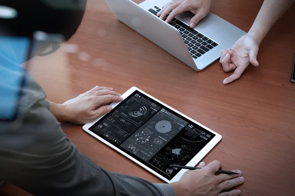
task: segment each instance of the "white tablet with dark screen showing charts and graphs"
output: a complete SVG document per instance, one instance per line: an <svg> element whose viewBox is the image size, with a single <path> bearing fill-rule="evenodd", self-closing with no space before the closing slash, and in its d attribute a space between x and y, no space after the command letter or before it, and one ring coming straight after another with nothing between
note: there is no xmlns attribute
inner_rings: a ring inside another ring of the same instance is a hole
<svg viewBox="0 0 295 196"><path fill-rule="evenodd" d="M178 181L221 140L221 135L132 87L113 110L83 130L165 182Z"/></svg>

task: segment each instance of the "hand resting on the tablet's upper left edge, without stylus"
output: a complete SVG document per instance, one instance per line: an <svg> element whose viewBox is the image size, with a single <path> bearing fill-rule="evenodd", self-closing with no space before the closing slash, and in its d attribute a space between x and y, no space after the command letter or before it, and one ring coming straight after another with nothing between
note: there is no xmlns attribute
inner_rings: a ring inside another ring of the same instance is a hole
<svg viewBox="0 0 295 196"><path fill-rule="evenodd" d="M122 101L120 94L112 88L96 86L90 91L79 95L76 98L64 102L63 121L71 123L89 123L99 116L107 114L112 110L109 104L114 101Z"/></svg>

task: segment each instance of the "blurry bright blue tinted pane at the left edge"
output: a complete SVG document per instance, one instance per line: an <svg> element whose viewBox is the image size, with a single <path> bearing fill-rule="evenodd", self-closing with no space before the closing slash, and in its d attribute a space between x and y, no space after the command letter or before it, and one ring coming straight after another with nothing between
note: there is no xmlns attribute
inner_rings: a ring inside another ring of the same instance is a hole
<svg viewBox="0 0 295 196"><path fill-rule="evenodd" d="M0 120L16 115L28 52L29 39L0 37Z"/></svg>

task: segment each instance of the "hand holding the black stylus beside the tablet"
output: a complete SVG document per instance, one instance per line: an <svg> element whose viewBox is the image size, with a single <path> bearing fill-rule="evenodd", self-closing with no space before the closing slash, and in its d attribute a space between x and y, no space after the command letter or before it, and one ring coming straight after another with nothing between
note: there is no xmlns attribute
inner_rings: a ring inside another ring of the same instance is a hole
<svg viewBox="0 0 295 196"><path fill-rule="evenodd" d="M233 172L239 175L228 175L215 173L221 168L219 161L213 161L207 166L201 162L200 170L189 170L185 172L178 182L171 183L177 196L238 196L240 190L224 192L237 185L244 183L241 171ZM222 193L221 193L222 192Z"/></svg>

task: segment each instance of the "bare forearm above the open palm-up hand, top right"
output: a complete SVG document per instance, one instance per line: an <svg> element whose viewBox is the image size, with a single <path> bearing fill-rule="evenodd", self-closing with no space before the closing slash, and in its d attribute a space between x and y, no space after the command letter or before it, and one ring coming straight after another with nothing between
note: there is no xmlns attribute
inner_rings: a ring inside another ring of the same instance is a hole
<svg viewBox="0 0 295 196"><path fill-rule="evenodd" d="M261 43L272 25L289 9L295 0L265 0L248 34Z"/></svg>

